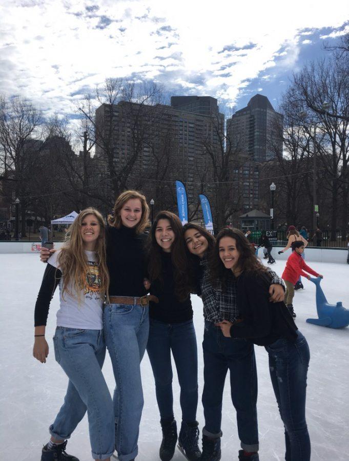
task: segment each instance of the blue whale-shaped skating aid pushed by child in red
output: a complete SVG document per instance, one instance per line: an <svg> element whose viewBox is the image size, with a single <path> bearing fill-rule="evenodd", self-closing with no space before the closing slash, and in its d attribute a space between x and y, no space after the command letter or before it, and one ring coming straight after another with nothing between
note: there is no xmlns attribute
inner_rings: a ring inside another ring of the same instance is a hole
<svg viewBox="0 0 349 461"><path fill-rule="evenodd" d="M318 319L306 319L307 323L326 326L329 328L343 328L349 325L349 309L342 306L341 301L337 304L327 303L320 286L321 278L310 279L316 285L316 310Z"/></svg>

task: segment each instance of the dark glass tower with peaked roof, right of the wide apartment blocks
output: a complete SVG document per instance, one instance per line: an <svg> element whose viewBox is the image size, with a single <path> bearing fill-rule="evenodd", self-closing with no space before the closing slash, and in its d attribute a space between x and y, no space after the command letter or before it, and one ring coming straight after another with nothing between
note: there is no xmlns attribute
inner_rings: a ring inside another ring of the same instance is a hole
<svg viewBox="0 0 349 461"><path fill-rule="evenodd" d="M275 158L282 152L278 130L282 129L283 116L276 112L266 96L256 94L247 107L237 111L227 120L227 131L233 144L243 154L257 162Z"/></svg>

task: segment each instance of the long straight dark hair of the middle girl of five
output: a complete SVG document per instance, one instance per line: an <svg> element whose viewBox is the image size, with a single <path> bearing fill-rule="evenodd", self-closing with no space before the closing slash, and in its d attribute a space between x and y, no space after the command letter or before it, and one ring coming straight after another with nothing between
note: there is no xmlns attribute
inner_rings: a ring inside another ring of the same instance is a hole
<svg viewBox="0 0 349 461"><path fill-rule="evenodd" d="M186 253L186 243L183 238L182 223L180 222L178 216L168 211L161 211L156 215L149 234L149 278L151 282L159 280L160 283L163 284L161 260L162 249L156 242L155 238L156 227L160 219L167 219L170 221L172 230L175 234L175 240L171 246L175 295L179 301L184 301L193 290L194 282L192 280L189 260Z"/></svg>

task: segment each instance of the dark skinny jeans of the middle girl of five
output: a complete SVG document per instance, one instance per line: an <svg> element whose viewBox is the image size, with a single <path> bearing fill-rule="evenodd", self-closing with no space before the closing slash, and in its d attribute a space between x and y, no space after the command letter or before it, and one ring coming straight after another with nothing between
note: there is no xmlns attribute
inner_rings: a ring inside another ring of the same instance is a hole
<svg viewBox="0 0 349 461"><path fill-rule="evenodd" d="M147 352L155 378L161 420L174 417L171 351L180 385L182 420L191 423L196 421L198 402L197 344L193 321L169 324L151 319Z"/></svg>

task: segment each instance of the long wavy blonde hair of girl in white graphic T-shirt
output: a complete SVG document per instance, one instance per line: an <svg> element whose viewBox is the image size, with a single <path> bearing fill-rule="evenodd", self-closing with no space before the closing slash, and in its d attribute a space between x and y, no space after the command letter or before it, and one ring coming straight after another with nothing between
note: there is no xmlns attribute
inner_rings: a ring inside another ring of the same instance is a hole
<svg viewBox="0 0 349 461"><path fill-rule="evenodd" d="M86 284L87 258L84 251L84 241L81 237L81 224L87 215L95 216L100 225L99 236L94 251L97 256L100 278L99 291L101 295L105 295L108 298L109 272L106 262L106 226L102 215L95 208L86 208L77 215L73 224L68 229L65 243L58 255L58 267L63 277L62 295L64 292L67 292L68 295L73 296L68 288L71 284L71 286L75 287L79 299L80 290Z"/></svg>

